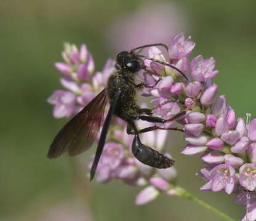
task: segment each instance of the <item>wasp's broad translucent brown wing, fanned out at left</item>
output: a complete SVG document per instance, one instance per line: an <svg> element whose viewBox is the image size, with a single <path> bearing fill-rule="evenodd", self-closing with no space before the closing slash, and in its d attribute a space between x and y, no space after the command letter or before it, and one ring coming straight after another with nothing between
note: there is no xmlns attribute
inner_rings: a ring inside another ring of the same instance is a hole
<svg viewBox="0 0 256 221"><path fill-rule="evenodd" d="M107 102L106 89L103 89L58 132L47 157L56 158L66 151L74 156L89 149L97 138Z"/></svg>

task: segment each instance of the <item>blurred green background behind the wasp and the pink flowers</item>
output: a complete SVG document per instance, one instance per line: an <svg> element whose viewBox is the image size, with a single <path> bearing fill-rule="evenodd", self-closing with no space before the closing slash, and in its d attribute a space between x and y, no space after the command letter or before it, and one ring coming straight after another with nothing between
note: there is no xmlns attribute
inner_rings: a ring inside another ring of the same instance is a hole
<svg viewBox="0 0 256 221"><path fill-rule="evenodd" d="M171 24L176 24L175 31L191 35L197 44L193 56L214 56L220 70L214 81L220 93L226 95L239 117L246 112L256 117L256 1L163 3L175 16L161 21L159 26L164 24L169 30ZM86 43L96 69L102 70L106 59L121 49L114 45L115 41L122 44L122 39L113 30L132 31L120 22L139 17L150 4L142 0L1 0L0 220L222 220L174 196L162 195L146 206L135 206L140 188L116 180L107 185L84 182L86 165L95 149L77 158L82 168L66 156L58 160L46 158L50 142L66 122L54 119L52 106L46 103L52 91L61 88L60 74L53 64L62 60L63 42ZM156 16L157 7L151 10L151 14L142 15L145 23ZM158 33L158 25L150 28ZM166 39L174 34L169 31ZM134 38L138 37L134 33ZM165 40L158 42L162 41ZM172 134L169 145L173 146L170 152L177 161L178 183L238 220L245 208L234 205L233 196L199 191L204 181L194 174L202 165L199 157L180 154L182 138Z"/></svg>

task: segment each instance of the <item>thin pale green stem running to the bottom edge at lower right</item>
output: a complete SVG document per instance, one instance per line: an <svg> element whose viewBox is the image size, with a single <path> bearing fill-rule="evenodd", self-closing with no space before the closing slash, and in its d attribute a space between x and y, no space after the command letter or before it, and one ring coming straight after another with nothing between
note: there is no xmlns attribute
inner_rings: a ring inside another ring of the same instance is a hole
<svg viewBox="0 0 256 221"><path fill-rule="evenodd" d="M216 209L213 206L210 206L210 204L199 200L198 198L196 198L196 196L193 196L190 192L188 192L187 190L185 190L185 188L179 187L179 186L175 186L174 187L175 193L182 197L182 198L186 198L187 200L192 200L196 203L199 204L199 206L202 206L206 209L208 209L209 211L214 212L215 214L219 215L220 217L224 218L225 220L229 220L229 221L236 221L233 218L231 218L230 216L226 215L225 213L223 213L222 211L219 211L218 209Z"/></svg>

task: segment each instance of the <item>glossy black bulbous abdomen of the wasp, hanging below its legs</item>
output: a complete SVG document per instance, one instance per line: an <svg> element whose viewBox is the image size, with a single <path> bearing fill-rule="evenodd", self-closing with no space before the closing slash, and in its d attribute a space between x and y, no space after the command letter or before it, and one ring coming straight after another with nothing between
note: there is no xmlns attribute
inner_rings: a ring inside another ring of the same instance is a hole
<svg viewBox="0 0 256 221"><path fill-rule="evenodd" d="M137 134L132 142L132 153L138 161L154 168L169 168L174 165L174 160L142 144Z"/></svg>

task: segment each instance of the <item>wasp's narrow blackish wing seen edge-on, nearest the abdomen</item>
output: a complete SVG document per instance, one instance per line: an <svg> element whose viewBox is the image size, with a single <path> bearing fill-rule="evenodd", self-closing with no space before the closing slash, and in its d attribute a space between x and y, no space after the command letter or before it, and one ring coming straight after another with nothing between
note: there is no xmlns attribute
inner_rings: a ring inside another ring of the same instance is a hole
<svg viewBox="0 0 256 221"><path fill-rule="evenodd" d="M121 90L116 91L114 94L114 98L110 104L110 110L108 111L108 115L106 115L106 120L104 122L102 133L100 134L100 141L98 141L97 151L94 157L94 163L92 163L92 168L90 169L90 180L94 179L94 175L98 166L98 161L100 161L100 156L102 155L103 147L106 141L106 135L108 133L108 128L110 127L111 118L116 111L116 105L118 104L119 95Z"/></svg>

